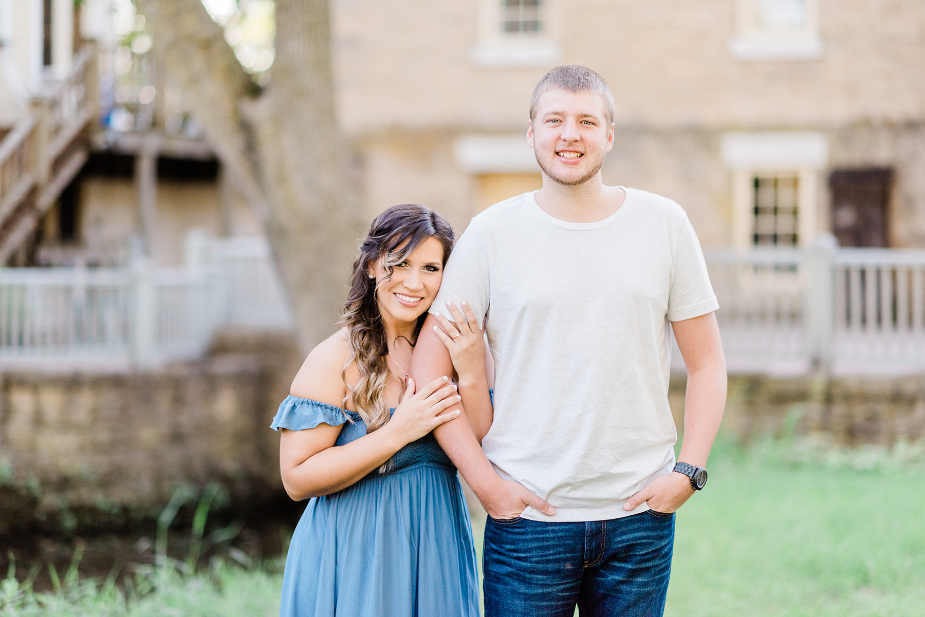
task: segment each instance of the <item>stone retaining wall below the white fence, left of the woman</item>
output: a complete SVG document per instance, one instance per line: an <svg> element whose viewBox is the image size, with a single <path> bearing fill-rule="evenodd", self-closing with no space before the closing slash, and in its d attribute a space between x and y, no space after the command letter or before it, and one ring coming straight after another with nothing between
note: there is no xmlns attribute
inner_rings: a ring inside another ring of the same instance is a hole
<svg viewBox="0 0 925 617"><path fill-rule="evenodd" d="M157 372L0 376L0 534L129 524L183 483L277 495L269 424L298 362L289 337L226 335Z"/></svg>

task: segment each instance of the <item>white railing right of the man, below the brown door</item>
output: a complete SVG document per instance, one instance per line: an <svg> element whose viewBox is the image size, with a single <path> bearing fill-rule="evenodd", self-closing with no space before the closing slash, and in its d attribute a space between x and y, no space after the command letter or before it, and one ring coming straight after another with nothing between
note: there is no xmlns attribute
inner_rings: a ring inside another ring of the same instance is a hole
<svg viewBox="0 0 925 617"><path fill-rule="evenodd" d="M925 251L705 251L731 373L925 372ZM680 367L680 358L672 358Z"/></svg>

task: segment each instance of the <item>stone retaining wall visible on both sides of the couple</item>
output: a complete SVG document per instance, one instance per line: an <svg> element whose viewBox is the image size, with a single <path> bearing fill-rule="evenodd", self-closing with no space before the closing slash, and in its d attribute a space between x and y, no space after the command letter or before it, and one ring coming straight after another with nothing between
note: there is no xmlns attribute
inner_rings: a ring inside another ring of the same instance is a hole
<svg viewBox="0 0 925 617"><path fill-rule="evenodd" d="M0 535L150 520L181 484L218 481L232 505L277 497L269 429L301 361L289 337L220 337L202 362L125 375L0 376ZM685 376L672 376L679 424ZM925 438L925 376L731 376L725 429L748 439L827 432L890 446Z"/></svg>

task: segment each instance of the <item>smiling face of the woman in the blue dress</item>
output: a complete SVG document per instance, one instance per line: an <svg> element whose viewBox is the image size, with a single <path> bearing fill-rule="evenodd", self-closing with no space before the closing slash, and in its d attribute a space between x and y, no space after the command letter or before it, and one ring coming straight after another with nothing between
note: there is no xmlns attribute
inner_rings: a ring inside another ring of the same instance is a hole
<svg viewBox="0 0 925 617"><path fill-rule="evenodd" d="M376 262L376 281L386 277L382 260ZM383 320L393 325L412 324L430 308L443 280L443 244L428 238L414 249L392 276L379 285L377 300Z"/></svg>

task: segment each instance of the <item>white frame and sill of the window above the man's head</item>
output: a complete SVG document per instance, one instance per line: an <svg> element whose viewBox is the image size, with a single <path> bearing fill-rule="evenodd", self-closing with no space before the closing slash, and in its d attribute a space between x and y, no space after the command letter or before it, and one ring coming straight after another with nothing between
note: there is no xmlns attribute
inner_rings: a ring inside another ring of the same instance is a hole
<svg viewBox="0 0 925 617"><path fill-rule="evenodd" d="M544 68L561 60L559 0L540 0L541 30L505 32L501 0L478 0L478 30L469 59L483 68Z"/></svg>

